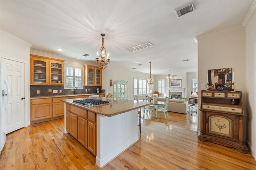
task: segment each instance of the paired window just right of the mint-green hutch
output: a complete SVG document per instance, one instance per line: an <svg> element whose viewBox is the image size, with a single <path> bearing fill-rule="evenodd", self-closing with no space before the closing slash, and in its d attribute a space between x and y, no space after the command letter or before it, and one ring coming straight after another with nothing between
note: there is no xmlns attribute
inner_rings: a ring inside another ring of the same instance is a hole
<svg viewBox="0 0 256 170"><path fill-rule="evenodd" d="M149 86L145 78L133 78L133 94L137 96L144 96L149 93Z"/></svg>

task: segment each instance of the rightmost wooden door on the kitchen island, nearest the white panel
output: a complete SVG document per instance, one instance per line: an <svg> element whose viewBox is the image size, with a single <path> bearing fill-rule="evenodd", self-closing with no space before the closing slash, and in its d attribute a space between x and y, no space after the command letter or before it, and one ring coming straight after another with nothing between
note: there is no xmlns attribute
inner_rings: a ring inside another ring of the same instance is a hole
<svg viewBox="0 0 256 170"><path fill-rule="evenodd" d="M87 123L87 149L90 150L95 155L96 152L96 145L95 145L95 138L96 138L96 129L95 124L88 121Z"/></svg>

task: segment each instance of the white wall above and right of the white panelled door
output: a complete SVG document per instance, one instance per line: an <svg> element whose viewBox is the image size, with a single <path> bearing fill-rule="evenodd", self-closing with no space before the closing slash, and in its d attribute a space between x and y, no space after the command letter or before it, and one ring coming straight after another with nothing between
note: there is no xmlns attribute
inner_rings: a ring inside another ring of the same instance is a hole
<svg viewBox="0 0 256 170"><path fill-rule="evenodd" d="M0 59L6 58L25 63L25 126L30 125L29 112L29 84L30 84L30 64L29 51L31 44L14 37L13 35L0 30Z"/></svg>

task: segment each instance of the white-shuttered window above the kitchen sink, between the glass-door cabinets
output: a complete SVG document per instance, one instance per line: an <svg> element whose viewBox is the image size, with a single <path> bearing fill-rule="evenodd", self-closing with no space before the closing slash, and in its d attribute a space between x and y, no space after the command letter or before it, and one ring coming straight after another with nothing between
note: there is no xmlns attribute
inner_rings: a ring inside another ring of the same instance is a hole
<svg viewBox="0 0 256 170"><path fill-rule="evenodd" d="M82 87L82 68L66 66L65 88Z"/></svg>

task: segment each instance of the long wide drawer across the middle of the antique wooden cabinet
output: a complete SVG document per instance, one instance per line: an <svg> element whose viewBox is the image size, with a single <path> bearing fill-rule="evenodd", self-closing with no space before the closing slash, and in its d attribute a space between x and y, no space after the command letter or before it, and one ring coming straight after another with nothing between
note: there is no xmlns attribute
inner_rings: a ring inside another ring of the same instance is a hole
<svg viewBox="0 0 256 170"><path fill-rule="evenodd" d="M202 104L202 109L225 111L225 112L240 113L240 114L243 113L243 109L239 107L226 107L226 106L214 106L214 105Z"/></svg>

